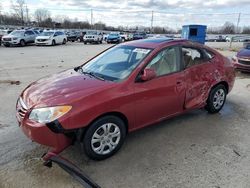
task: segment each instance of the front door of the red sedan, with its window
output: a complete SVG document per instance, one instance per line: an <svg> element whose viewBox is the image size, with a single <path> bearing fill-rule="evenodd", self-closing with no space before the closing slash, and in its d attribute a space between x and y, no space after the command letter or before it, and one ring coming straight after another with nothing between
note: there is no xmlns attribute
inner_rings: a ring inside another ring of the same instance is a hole
<svg viewBox="0 0 250 188"><path fill-rule="evenodd" d="M178 46L161 50L145 67L154 69L157 77L135 83L137 128L183 111L185 82L180 54Z"/></svg>

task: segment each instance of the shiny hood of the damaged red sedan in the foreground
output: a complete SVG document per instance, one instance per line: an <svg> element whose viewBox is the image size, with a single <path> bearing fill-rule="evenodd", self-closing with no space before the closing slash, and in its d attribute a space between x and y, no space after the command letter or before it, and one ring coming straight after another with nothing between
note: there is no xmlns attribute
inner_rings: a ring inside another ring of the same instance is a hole
<svg viewBox="0 0 250 188"><path fill-rule="evenodd" d="M69 105L114 85L70 69L31 83L21 97L28 108Z"/></svg>

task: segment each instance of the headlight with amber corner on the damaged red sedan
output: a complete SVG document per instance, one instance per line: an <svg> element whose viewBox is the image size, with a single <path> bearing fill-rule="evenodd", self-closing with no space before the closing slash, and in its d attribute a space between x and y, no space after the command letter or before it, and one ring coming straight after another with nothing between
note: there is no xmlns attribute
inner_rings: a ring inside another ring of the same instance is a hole
<svg viewBox="0 0 250 188"><path fill-rule="evenodd" d="M39 123L50 123L70 111L71 106L56 106L33 109L29 119Z"/></svg>

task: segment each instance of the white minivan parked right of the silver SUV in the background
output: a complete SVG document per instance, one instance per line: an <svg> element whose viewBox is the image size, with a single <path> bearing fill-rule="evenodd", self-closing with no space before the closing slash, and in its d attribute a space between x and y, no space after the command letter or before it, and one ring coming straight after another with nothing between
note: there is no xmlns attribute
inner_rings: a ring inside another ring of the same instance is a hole
<svg viewBox="0 0 250 188"><path fill-rule="evenodd" d="M51 45L66 44L67 36L62 31L43 31L36 37L36 45Z"/></svg>

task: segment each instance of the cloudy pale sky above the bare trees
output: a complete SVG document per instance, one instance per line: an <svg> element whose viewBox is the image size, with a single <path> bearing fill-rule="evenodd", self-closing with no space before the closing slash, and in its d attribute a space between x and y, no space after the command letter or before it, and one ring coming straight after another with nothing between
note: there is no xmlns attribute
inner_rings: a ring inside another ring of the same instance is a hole
<svg viewBox="0 0 250 188"><path fill-rule="evenodd" d="M15 2L15 0L13 0ZM3 12L11 13L11 1L0 0ZM48 9L57 21L64 17L78 21L104 22L111 26L153 26L180 28L185 24L210 27L230 21L250 25L250 0L26 0L30 14ZM153 13L152 13L153 11Z"/></svg>

